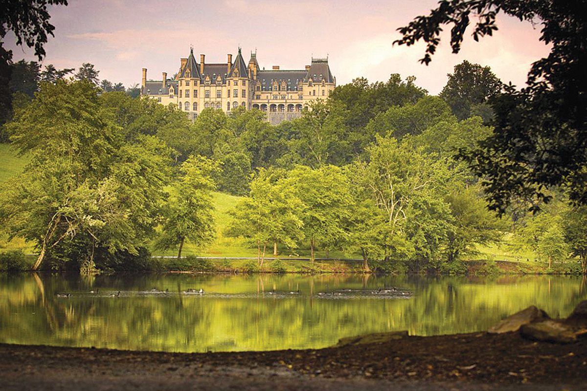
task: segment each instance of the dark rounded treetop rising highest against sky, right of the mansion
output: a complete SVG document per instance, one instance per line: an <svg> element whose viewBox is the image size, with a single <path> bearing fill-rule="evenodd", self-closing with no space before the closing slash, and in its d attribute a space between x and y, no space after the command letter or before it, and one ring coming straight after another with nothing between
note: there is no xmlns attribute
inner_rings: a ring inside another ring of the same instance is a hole
<svg viewBox="0 0 587 391"><path fill-rule="evenodd" d="M454 66L454 73L447 74L448 81L439 97L450 106L453 114L462 121L479 113L487 101L501 91L502 82L488 66L471 64L467 60ZM491 114L491 111L488 113ZM488 122L491 115L483 118Z"/></svg>

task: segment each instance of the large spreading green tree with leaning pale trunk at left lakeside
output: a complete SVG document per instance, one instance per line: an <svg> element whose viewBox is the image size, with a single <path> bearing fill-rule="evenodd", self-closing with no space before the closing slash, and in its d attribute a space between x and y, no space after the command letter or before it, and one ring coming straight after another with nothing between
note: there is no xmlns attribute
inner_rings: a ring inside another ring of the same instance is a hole
<svg viewBox="0 0 587 391"><path fill-rule="evenodd" d="M32 161L3 183L2 222L12 236L37 243L35 268L80 234L92 249L136 253L159 220L168 149L147 136L124 142L86 81L43 83L35 103L8 125L12 143Z"/></svg>

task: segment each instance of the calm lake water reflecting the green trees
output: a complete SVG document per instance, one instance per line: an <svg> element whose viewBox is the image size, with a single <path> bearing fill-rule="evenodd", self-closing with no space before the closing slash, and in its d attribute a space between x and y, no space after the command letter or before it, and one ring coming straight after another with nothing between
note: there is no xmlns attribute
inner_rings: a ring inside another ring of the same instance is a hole
<svg viewBox="0 0 587 391"><path fill-rule="evenodd" d="M367 332L483 331L532 304L566 317L585 298L580 277L0 274L0 342L177 352L322 348Z"/></svg>

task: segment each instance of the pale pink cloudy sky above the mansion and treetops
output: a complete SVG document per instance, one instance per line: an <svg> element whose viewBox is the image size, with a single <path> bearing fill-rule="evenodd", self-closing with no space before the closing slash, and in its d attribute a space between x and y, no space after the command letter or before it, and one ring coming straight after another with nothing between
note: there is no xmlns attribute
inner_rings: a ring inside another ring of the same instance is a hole
<svg viewBox="0 0 587 391"><path fill-rule="evenodd" d="M548 55L539 42L540 25L498 17L494 36L474 42L468 36L458 55L448 34L429 66L419 63L424 45L398 46L397 29L427 15L437 0L69 0L50 6L54 37L45 45L42 65L58 69L92 63L100 79L125 86L161 73L176 73L180 58L194 47L196 60L224 63L238 47L248 62L257 52L259 66L303 69L312 57L328 57L338 85L356 77L387 81L392 73L438 94L447 74L463 60L490 66L504 83L523 87L532 62ZM469 34L469 33L467 33ZM36 60L33 49L7 35L13 61Z"/></svg>

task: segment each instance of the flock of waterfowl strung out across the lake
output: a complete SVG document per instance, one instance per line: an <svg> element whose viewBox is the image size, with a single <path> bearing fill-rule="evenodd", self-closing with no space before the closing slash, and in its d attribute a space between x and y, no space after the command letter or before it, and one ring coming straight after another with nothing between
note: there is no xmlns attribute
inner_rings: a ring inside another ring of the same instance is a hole
<svg viewBox="0 0 587 391"><path fill-rule="evenodd" d="M87 295L95 295L97 297L120 297L121 291L100 291L99 289L90 290L87 292L79 292L73 293L76 296L87 296ZM123 296L131 296L131 295L158 295L158 294L167 294L167 295L176 295L176 292L170 291L168 288L165 290L160 290L156 287L153 287L150 290L144 291L136 291L131 293L127 291L123 293ZM204 289L193 289L188 288L187 290L180 291L182 295L204 295ZM271 291L261 291L257 293L247 293L247 294L225 294L225 293L208 293L208 296L211 297L219 297L219 298L238 298L238 297L258 297L259 295L266 297L292 297L295 295L302 295L306 296L305 293L302 293L299 288L296 291L276 291L275 289ZM326 284L326 290L320 291L318 293L311 293L309 297L316 297L316 298L348 298L348 299L357 299L357 298L410 298L412 297L412 293L407 290L402 290L396 287L378 287L376 289L342 289L342 290L333 290L329 289L328 284ZM57 293L55 295L57 298L70 298L72 297L72 293Z"/></svg>

